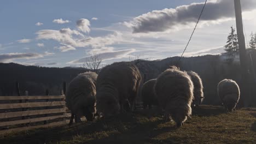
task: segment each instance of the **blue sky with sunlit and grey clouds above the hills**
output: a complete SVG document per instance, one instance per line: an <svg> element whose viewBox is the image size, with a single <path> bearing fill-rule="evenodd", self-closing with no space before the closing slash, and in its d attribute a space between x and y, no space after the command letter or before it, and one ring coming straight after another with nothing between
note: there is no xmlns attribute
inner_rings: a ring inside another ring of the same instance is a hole
<svg viewBox="0 0 256 144"><path fill-rule="evenodd" d="M202 0L0 2L0 62L80 67L180 56ZM256 32L256 1L242 0L246 41ZM234 0L208 0L184 56L218 55L236 28ZM246 42L247 43L247 42Z"/></svg>

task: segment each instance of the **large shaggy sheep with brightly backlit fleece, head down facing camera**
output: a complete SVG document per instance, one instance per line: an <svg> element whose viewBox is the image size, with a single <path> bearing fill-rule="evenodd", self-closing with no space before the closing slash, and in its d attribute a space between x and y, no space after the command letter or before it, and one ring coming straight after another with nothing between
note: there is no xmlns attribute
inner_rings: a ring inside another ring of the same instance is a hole
<svg viewBox="0 0 256 144"><path fill-rule="evenodd" d="M156 79L154 92L159 105L165 111L166 119L172 118L177 127L181 127L191 116L191 103L194 99L194 85L188 74L171 67Z"/></svg>

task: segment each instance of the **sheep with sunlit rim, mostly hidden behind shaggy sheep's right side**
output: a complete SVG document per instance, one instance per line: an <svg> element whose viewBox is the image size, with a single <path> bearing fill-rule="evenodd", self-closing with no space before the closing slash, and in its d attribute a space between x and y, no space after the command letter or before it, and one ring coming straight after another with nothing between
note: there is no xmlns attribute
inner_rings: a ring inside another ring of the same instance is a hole
<svg viewBox="0 0 256 144"><path fill-rule="evenodd" d="M187 71L187 74L190 76L191 81L194 84L194 100L193 100L193 105L194 106L199 106L201 105L203 101L203 85L202 85L202 80L200 76L195 73L194 71Z"/></svg>

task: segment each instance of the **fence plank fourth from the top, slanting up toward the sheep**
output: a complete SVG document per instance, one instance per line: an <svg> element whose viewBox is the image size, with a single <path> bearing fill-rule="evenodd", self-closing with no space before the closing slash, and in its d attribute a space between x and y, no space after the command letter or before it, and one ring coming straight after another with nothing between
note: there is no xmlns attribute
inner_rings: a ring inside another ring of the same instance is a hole
<svg viewBox="0 0 256 144"><path fill-rule="evenodd" d="M51 119L62 118L62 117L66 117L66 114L59 115L59 116L39 117L39 118L22 119L22 120L18 120L18 121L1 122L0 127L4 127L4 126L8 126L8 125L15 125L15 124L22 124L22 123L48 121Z"/></svg>

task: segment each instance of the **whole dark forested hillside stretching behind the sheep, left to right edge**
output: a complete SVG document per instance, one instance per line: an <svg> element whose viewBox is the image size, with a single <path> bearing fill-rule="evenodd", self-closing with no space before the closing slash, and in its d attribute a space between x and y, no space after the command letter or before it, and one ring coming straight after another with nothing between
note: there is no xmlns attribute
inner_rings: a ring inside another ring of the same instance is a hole
<svg viewBox="0 0 256 144"><path fill-rule="evenodd" d="M253 75L256 69L256 50L250 50L252 61L249 61L250 95L246 100L249 106L256 106L256 85ZM248 55L249 57L249 55ZM217 95L218 82L223 79L233 79L238 85L241 83L240 63L238 53L234 57L229 55L206 55L198 57L184 57L178 62L179 57L170 57L156 61L137 59L133 61L141 71L143 82L155 79L170 65L178 65L181 70L193 70L201 76L205 100L203 104L220 105ZM252 69L254 68L254 69ZM15 63L0 63L0 95L16 95L15 82L20 83L20 91L29 91L29 95L43 95L49 89L50 94L60 94L62 82L67 84L79 73L85 72L83 68L45 68L24 66Z"/></svg>

